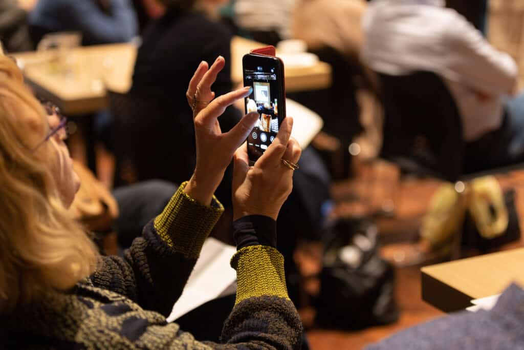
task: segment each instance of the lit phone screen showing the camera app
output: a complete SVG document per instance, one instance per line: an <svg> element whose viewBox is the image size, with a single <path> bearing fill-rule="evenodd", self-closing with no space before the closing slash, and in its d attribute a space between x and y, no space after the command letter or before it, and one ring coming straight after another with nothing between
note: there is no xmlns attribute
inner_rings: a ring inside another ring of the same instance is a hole
<svg viewBox="0 0 524 350"><path fill-rule="evenodd" d="M246 98L246 111L258 112L255 128L247 138L248 150L253 158L260 157L275 140L278 133L278 83L275 68L256 67L245 71L246 86L253 92Z"/></svg>

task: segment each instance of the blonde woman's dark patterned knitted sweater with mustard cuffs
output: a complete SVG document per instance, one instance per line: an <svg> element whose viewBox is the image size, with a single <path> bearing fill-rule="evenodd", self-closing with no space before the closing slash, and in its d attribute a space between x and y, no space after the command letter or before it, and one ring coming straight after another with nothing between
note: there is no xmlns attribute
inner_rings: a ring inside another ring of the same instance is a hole
<svg viewBox="0 0 524 350"><path fill-rule="evenodd" d="M283 258L267 246L244 247L231 260L238 287L223 344L198 342L166 322L223 211L215 198L209 207L196 203L184 186L124 258L104 257L73 290L48 292L2 316L0 348L299 348L302 324L288 298Z"/></svg>

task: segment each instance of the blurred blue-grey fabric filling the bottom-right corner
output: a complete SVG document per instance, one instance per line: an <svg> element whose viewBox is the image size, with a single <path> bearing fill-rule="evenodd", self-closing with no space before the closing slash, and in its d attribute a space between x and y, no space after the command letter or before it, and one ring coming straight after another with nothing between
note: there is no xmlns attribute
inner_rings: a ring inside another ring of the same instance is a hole
<svg viewBox="0 0 524 350"><path fill-rule="evenodd" d="M451 314L409 328L367 349L524 349L524 290L512 284L490 311Z"/></svg>

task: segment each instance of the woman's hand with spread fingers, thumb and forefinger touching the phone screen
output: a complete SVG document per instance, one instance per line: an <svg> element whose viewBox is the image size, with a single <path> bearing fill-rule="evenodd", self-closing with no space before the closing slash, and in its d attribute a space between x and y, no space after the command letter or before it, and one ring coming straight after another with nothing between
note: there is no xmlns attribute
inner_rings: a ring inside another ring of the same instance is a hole
<svg viewBox="0 0 524 350"><path fill-rule="evenodd" d="M196 167L184 192L204 205L211 203L213 194L222 181L233 154L246 140L259 118L258 113L249 113L229 132L222 133L218 121L219 116L235 101L249 96L252 89L239 89L213 100L215 94L211 91L211 85L224 65L223 57L217 58L209 69L208 63L200 63L186 93L191 108L194 107ZM194 98L196 102L193 102Z"/></svg>

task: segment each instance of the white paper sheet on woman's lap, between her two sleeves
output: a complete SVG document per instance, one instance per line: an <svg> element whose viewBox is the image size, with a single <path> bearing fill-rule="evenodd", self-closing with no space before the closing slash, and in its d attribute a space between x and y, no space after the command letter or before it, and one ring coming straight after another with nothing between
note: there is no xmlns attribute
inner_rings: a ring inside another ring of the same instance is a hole
<svg viewBox="0 0 524 350"><path fill-rule="evenodd" d="M235 252L235 247L214 238L206 239L200 258L167 322L177 320L208 301L236 292L236 272L230 266Z"/></svg>

